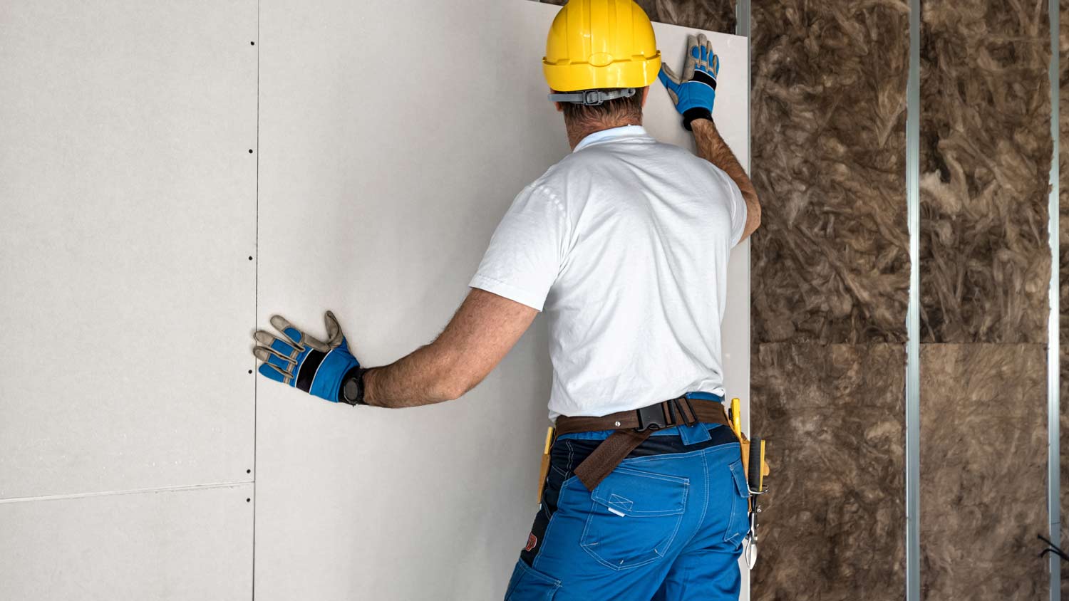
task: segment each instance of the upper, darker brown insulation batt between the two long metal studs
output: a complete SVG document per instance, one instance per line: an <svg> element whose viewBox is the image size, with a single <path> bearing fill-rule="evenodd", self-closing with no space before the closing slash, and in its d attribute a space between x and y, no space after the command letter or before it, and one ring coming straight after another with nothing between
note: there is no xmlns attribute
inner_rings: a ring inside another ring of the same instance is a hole
<svg viewBox="0 0 1069 601"><path fill-rule="evenodd" d="M921 339L1043 343L1051 160L1045 3L923 6Z"/></svg>

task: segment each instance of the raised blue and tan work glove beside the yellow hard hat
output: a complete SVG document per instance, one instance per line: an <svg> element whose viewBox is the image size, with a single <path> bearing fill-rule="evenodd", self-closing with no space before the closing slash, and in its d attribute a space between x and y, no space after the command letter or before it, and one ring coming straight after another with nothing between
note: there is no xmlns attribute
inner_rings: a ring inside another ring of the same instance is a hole
<svg viewBox="0 0 1069 601"><path fill-rule="evenodd" d="M716 74L721 70L721 60L713 53L713 45L700 33L698 37L686 37L686 62L683 77L661 64L657 77L668 90L668 96L676 102L676 110L683 115L683 127L691 129L696 118L713 118L713 101L716 100Z"/></svg>

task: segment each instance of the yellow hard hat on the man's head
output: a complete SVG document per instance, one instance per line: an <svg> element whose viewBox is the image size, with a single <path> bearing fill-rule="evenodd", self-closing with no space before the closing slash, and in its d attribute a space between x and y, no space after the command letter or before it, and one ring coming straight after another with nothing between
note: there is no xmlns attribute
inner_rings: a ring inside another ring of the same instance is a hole
<svg viewBox="0 0 1069 601"><path fill-rule="evenodd" d="M553 19L542 70L554 90L645 88L660 69L653 25L634 0L569 0Z"/></svg>

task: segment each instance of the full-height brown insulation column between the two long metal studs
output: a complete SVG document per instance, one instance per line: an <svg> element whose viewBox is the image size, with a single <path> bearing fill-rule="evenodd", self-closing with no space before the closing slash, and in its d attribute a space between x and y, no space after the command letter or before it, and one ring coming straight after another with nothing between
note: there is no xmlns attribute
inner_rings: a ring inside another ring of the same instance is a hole
<svg viewBox="0 0 1069 601"><path fill-rule="evenodd" d="M921 589L1039 599L1047 529L1044 2L923 3ZM977 597L979 596L979 597Z"/></svg>

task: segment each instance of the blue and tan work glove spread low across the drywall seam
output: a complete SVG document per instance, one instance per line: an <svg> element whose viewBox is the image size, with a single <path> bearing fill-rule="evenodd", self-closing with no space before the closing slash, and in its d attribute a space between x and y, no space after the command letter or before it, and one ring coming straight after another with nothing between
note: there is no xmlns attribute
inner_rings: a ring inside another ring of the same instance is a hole
<svg viewBox="0 0 1069 601"><path fill-rule="evenodd" d="M276 315L270 318L270 325L281 332L282 337L258 331L252 336L257 341L252 354L263 361L260 374L310 395L338 402L342 379L360 363L348 351L348 344L334 313L326 312L323 320L327 326L325 343L294 328L281 315Z"/></svg>

